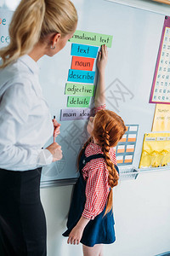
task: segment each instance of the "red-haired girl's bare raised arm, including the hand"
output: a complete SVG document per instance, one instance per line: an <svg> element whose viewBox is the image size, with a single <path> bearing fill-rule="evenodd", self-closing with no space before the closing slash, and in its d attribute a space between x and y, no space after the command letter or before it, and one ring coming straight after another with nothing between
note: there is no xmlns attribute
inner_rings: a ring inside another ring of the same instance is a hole
<svg viewBox="0 0 170 256"><path fill-rule="evenodd" d="M105 105L105 66L107 64L108 51L107 46L104 44L99 51L97 67L98 67L98 83L94 97L94 106L99 107Z"/></svg>

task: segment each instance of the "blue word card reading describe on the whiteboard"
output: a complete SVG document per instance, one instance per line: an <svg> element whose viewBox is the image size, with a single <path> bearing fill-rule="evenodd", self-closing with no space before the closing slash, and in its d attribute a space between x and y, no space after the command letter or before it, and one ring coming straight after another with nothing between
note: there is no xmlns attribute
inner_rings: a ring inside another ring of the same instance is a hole
<svg viewBox="0 0 170 256"><path fill-rule="evenodd" d="M94 71L69 69L68 81L77 83L94 84Z"/></svg>

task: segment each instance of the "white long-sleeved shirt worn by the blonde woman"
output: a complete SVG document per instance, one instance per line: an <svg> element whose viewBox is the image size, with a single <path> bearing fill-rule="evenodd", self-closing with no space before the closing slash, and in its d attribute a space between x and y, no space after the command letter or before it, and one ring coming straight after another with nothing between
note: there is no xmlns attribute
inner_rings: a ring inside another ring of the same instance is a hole
<svg viewBox="0 0 170 256"><path fill-rule="evenodd" d="M52 154L42 149L54 126L38 69L29 55L0 69L0 168L26 171L53 160Z"/></svg>

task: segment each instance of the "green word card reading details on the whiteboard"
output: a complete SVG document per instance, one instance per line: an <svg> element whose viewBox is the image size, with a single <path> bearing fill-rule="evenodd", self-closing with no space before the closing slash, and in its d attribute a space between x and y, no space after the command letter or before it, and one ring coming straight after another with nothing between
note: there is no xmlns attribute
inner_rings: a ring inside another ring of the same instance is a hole
<svg viewBox="0 0 170 256"><path fill-rule="evenodd" d="M88 96L68 96L67 107L88 108L91 97Z"/></svg>

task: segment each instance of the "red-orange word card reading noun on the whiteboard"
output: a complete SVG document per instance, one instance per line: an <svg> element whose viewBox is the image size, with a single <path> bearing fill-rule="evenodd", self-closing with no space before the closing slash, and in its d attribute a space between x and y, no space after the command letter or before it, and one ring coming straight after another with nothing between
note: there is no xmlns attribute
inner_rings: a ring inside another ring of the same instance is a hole
<svg viewBox="0 0 170 256"><path fill-rule="evenodd" d="M86 57L72 57L71 69L89 70L92 71L94 67L94 59Z"/></svg>

